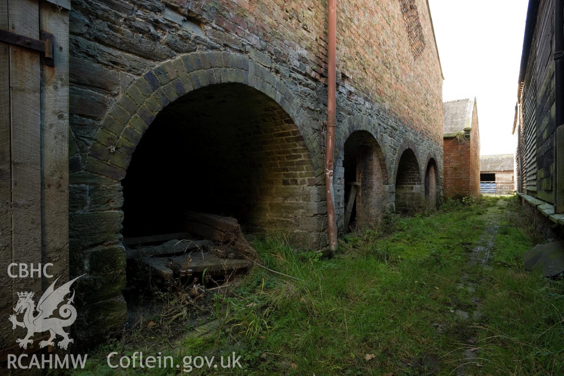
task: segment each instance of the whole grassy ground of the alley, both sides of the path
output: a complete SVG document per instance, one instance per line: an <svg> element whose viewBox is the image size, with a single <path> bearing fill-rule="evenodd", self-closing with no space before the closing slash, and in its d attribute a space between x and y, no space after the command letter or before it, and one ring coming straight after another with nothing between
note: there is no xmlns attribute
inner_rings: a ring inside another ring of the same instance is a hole
<svg viewBox="0 0 564 376"><path fill-rule="evenodd" d="M243 357L241 369L192 370L202 374L407 376L433 369L456 374L461 351L475 347L479 366L473 364L469 374L563 374L564 289L523 271L520 256L532 244L526 222L501 224L492 268L467 263L483 232L483 214L500 212L499 200L448 201L429 216L388 216L377 227L343 237L331 259L297 253L280 238L255 241L265 266L298 280L254 268L235 294L215 297L209 319L218 318L221 329L202 338L184 336L180 346L157 338L153 351L169 351L175 359L231 351ZM475 293L457 288L464 275L478 285ZM482 319L458 319L455 309L469 309L475 297L481 298ZM150 330L143 329L142 337ZM174 374L114 373L104 366L110 348L120 355L138 349L126 342L92 352L90 373L83 374Z"/></svg>

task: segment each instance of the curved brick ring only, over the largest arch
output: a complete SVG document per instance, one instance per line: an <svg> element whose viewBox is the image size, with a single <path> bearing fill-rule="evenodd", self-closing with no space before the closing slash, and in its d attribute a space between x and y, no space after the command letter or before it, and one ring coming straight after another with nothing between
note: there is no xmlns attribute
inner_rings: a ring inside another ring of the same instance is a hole
<svg viewBox="0 0 564 376"><path fill-rule="evenodd" d="M102 120L85 170L121 181L136 145L157 114L184 94L219 83L242 83L275 100L292 118L311 156L315 156L303 109L292 91L270 70L233 52L192 52L157 65L121 94ZM312 158L316 159L323 162L323 158ZM313 163L314 169L319 168L319 163Z"/></svg>

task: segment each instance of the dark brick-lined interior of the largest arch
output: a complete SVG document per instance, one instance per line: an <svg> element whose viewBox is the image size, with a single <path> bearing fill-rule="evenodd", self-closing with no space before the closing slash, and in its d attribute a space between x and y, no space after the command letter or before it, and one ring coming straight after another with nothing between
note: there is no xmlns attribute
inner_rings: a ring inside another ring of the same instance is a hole
<svg viewBox="0 0 564 376"><path fill-rule="evenodd" d="M247 233L302 246L323 225L322 197L296 125L274 100L228 83L170 104L140 140L124 186L124 235L184 231L185 210L232 215ZM312 219L318 215L318 220Z"/></svg>

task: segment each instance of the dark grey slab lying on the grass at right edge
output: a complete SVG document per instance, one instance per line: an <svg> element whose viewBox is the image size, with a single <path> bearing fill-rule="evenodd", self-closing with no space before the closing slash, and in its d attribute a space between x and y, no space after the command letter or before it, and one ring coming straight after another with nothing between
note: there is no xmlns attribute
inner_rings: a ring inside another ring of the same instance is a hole
<svg viewBox="0 0 564 376"><path fill-rule="evenodd" d="M564 241L537 244L523 254L526 270L539 269L545 277L564 272Z"/></svg>

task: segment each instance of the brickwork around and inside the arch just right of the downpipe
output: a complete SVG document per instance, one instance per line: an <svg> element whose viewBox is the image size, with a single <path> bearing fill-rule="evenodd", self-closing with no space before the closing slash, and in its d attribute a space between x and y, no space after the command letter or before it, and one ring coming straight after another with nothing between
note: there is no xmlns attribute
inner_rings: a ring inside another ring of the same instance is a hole
<svg viewBox="0 0 564 376"><path fill-rule="evenodd" d="M347 224L345 223L345 201L347 200L346 171L344 166L345 144L353 138L354 143L358 144L357 146L363 145L371 149L371 155L367 162L368 165L371 165L371 171L373 170L372 179L374 181L368 184L367 187L362 187L369 189L368 194L362 192L361 189L361 193L356 196L357 199L360 198L361 201L364 201L364 218L371 221L376 219L377 216L394 210L393 188L389 185L390 157L384 144L384 138L380 134L377 123L371 118L362 114L352 115L337 127L335 142L333 187L337 212L337 228L340 232L347 231Z"/></svg>

